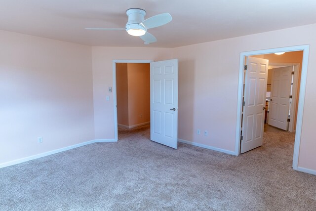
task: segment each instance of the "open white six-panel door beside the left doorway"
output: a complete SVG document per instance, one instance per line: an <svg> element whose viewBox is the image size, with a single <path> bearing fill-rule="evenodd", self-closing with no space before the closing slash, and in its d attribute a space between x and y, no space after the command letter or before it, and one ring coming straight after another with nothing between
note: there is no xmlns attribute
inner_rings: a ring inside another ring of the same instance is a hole
<svg viewBox="0 0 316 211"><path fill-rule="evenodd" d="M150 63L150 136L178 148L178 59Z"/></svg>

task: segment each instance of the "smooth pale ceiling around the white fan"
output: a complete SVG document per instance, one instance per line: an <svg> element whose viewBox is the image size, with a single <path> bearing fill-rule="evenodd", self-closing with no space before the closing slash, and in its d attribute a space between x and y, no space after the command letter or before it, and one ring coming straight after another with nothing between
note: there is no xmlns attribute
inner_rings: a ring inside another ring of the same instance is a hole
<svg viewBox="0 0 316 211"><path fill-rule="evenodd" d="M92 46L178 47L316 23L316 0L0 0L0 30ZM144 45L125 31L128 8L173 20Z"/></svg>

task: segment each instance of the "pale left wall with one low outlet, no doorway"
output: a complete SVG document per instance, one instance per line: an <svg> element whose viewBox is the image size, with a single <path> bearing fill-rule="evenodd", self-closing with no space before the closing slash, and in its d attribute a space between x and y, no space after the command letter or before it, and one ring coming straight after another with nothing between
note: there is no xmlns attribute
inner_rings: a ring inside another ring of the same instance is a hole
<svg viewBox="0 0 316 211"><path fill-rule="evenodd" d="M94 139L91 47L0 31L0 49L0 165Z"/></svg>

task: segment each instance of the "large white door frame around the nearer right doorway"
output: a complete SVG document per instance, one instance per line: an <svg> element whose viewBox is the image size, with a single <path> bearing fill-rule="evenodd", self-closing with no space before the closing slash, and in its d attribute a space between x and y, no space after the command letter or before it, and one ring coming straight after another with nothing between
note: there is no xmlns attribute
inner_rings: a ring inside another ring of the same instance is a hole
<svg viewBox="0 0 316 211"><path fill-rule="evenodd" d="M303 59L302 59L301 84L300 84L300 94L299 94L299 102L298 102L298 109L297 109L296 133L295 133L293 165L292 165L294 170L298 169L298 157L299 157L300 142L301 142L308 57L309 57L309 50L310 50L309 44L240 52L239 76L238 76L238 94L237 94L237 118L236 118L237 122L236 122L235 155L240 154L240 135L241 135L240 128L241 128L241 114L242 114L241 109L242 109L243 69L244 69L245 57L252 56L252 55L262 55L262 54L269 54L269 53L276 53L276 52L290 52L290 51L300 51L300 50L303 50Z"/></svg>

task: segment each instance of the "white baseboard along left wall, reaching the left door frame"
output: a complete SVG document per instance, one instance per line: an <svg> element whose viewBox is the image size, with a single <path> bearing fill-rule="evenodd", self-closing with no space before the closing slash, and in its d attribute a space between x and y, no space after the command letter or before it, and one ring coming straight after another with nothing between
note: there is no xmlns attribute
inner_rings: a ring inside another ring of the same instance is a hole
<svg viewBox="0 0 316 211"><path fill-rule="evenodd" d="M75 144L75 145L72 145L72 146L68 146L68 147L64 147L64 148L60 148L60 149L56 149L56 150L40 153L40 154L37 154L37 155L32 155L32 156L29 156L29 157L26 157L26 158L20 158L20 159L16 159L16 160L13 160L13 161L6 162L6 163L2 163L2 164L0 164L0 169L4 168L4 167L15 165L15 164L20 164L20 163L24 163L24 162L27 162L27 161L31 161L31 160L34 160L34 159L42 158L42 157L45 157L45 156L48 156L48 155L56 154L56 153L59 153L59 152L64 152L64 151L67 151L67 150L70 150L70 149L75 149L75 148L82 147L82 146L85 146L85 145L88 145L88 144L100 143L100 142L116 142L116 141L115 141L115 139L94 139L94 140L91 140L91 141L86 141L86 142Z"/></svg>

